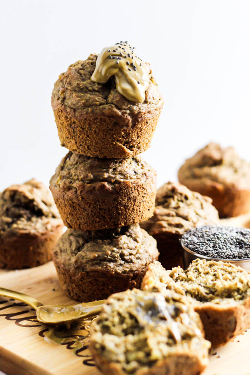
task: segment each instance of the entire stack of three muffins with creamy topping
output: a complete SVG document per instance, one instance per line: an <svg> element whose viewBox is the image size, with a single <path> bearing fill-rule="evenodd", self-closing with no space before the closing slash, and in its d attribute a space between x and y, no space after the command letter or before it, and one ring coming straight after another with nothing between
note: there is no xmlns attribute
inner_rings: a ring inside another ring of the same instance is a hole
<svg viewBox="0 0 250 375"><path fill-rule="evenodd" d="M149 64L127 42L69 66L52 93L61 145L50 181L67 231L54 251L63 290L87 302L139 288L156 241L156 171L137 155L151 142L163 99Z"/></svg>

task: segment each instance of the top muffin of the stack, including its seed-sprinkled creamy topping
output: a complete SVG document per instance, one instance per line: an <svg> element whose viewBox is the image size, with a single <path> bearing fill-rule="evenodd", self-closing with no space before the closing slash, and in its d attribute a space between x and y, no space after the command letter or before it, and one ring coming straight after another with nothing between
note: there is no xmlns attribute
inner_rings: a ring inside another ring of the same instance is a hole
<svg viewBox="0 0 250 375"><path fill-rule="evenodd" d="M127 42L70 65L51 102L62 146L111 158L147 150L163 106L150 65Z"/></svg>

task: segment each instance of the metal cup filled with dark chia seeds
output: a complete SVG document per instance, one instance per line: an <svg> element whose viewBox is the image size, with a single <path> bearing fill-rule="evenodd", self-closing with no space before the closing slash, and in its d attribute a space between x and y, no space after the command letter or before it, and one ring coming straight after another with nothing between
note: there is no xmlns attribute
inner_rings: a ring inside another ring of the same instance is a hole
<svg viewBox="0 0 250 375"><path fill-rule="evenodd" d="M194 259L234 263L250 271L250 229L204 225L181 237L185 269Z"/></svg>

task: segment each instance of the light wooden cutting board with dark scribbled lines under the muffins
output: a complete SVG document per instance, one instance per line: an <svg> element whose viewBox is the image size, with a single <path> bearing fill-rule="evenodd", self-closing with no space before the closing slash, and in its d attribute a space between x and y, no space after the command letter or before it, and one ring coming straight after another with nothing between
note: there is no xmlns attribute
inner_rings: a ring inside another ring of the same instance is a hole
<svg viewBox="0 0 250 375"><path fill-rule="evenodd" d="M239 226L248 226L250 217L240 220ZM44 304L75 303L61 291L52 262L28 270L0 270L0 287L29 294ZM0 369L10 375L100 375L87 347L74 355L70 338L64 345L47 342L46 330L29 306L0 297ZM250 330L212 350L203 375L250 375L249 348Z"/></svg>

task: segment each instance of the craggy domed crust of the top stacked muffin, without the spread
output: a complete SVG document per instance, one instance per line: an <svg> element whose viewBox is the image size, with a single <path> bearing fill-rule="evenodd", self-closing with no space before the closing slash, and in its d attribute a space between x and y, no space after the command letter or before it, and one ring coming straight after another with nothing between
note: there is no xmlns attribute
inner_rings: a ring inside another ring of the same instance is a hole
<svg viewBox="0 0 250 375"><path fill-rule="evenodd" d="M152 75L145 92L145 101L135 104L118 93L113 77L105 85L91 81L96 59L97 54L91 54L87 60L79 60L70 65L68 70L59 76L52 92L54 111L63 106L78 120L104 115L115 117L120 124L127 126L133 126L138 118L159 114L163 99Z"/></svg>

